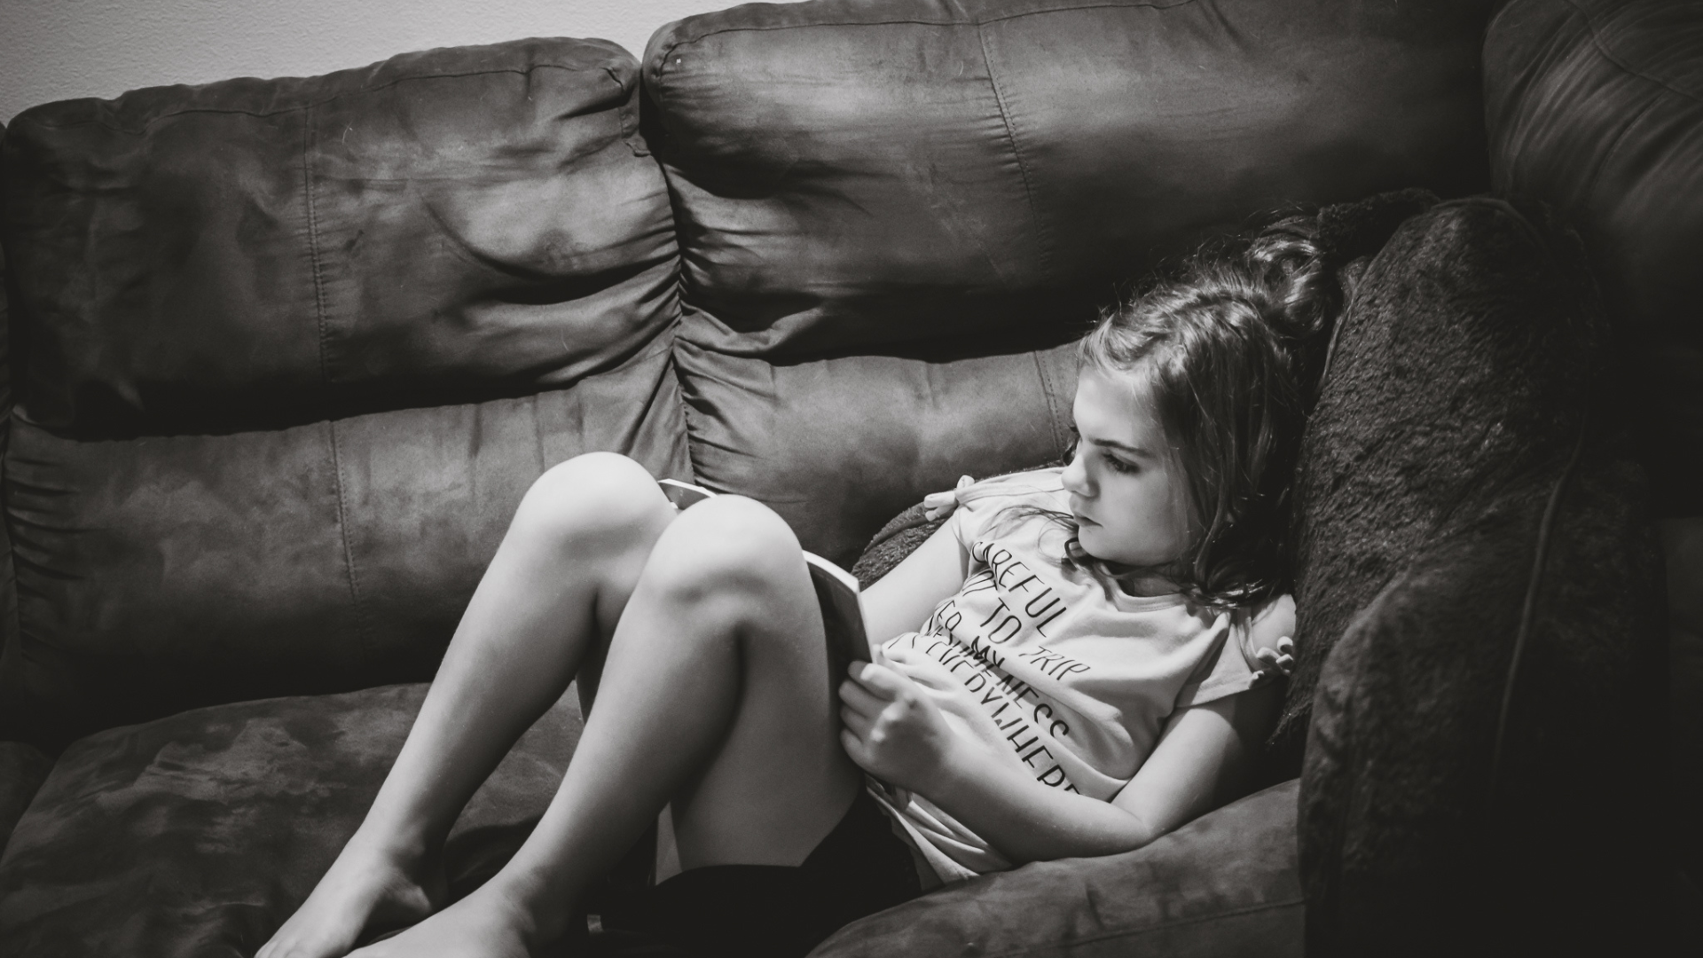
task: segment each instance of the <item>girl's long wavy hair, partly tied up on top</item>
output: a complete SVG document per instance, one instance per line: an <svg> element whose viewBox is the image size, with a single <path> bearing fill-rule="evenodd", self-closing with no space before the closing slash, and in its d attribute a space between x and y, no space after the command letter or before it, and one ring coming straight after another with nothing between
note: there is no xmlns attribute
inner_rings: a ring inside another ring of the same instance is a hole
<svg viewBox="0 0 1703 958"><path fill-rule="evenodd" d="M1189 549L1158 568L1095 559L1069 530L1066 563L1110 580L1161 574L1204 605L1259 605L1289 588L1289 486L1308 394L1340 305L1315 216L1204 249L1180 273L1102 310L1083 365L1127 377L1187 489Z"/></svg>

